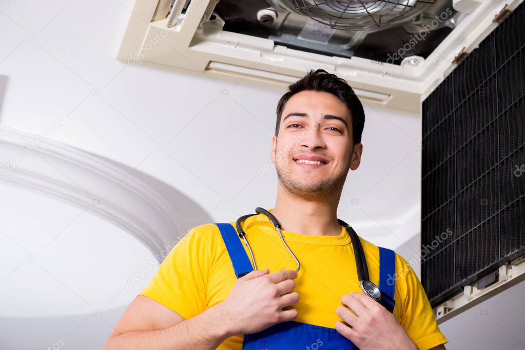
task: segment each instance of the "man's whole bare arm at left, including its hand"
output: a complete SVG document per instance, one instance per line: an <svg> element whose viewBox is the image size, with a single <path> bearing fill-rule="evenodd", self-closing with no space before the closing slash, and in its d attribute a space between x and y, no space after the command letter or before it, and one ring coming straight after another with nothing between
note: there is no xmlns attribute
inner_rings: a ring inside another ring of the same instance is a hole
<svg viewBox="0 0 525 350"><path fill-rule="evenodd" d="M251 271L235 282L224 301L187 320L138 296L124 311L103 350L215 349L230 336L291 321L297 317L291 305L299 301L299 294L292 292L292 278L297 278L295 270Z"/></svg>

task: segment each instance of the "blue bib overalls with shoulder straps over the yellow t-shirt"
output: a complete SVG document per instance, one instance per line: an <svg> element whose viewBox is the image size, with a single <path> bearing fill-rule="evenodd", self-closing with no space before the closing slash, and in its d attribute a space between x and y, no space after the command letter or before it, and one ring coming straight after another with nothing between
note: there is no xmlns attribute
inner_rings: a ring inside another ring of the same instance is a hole
<svg viewBox="0 0 525 350"><path fill-rule="evenodd" d="M232 260L235 276L240 278L253 271L250 259L232 224L216 223L216 225L220 229L226 250ZM393 300L395 281L392 285L388 285L387 281L388 276L394 276L395 272L394 251L379 247L379 263L378 287ZM358 349L350 340L339 334L335 328L296 321L277 323L261 332L245 334L243 338L243 350L317 350L319 347L322 350Z"/></svg>

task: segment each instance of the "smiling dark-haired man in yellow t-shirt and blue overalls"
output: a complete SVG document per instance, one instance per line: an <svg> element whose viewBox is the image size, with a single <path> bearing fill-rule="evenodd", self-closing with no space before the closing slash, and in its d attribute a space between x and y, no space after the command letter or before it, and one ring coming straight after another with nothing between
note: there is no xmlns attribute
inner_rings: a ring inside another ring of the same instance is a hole
<svg viewBox="0 0 525 350"><path fill-rule="evenodd" d="M308 340L307 349L445 349L425 291L401 256L392 255L393 313L360 289L353 245L336 211L348 170L361 161L361 102L324 70L309 72L289 90L278 103L272 137L279 182L270 212L301 263L299 272L263 213L241 224L262 269L238 279L219 227L194 227L129 305L105 349L240 349L243 342L247 349L303 348L297 344L309 333L279 333L282 324L321 330L316 334L325 336ZM377 285L379 248L360 241ZM247 344L253 338L270 346ZM341 341L344 347L333 345Z"/></svg>

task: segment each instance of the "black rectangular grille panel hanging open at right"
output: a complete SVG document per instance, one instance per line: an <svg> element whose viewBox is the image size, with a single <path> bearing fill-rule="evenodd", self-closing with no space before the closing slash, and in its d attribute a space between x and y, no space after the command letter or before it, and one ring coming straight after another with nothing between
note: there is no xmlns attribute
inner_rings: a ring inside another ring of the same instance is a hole
<svg viewBox="0 0 525 350"><path fill-rule="evenodd" d="M523 32L525 3L423 102L421 268L433 307L525 255Z"/></svg>

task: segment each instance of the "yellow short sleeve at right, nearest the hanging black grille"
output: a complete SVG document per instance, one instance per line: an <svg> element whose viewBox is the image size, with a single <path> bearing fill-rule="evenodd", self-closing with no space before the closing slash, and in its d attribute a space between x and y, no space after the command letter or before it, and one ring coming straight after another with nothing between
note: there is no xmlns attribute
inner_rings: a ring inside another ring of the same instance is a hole
<svg viewBox="0 0 525 350"><path fill-rule="evenodd" d="M401 267L397 271L400 278L396 283L401 282L401 296L404 295L400 311L401 325L421 350L448 343L445 335L439 330L426 292L416 273L403 257L397 254L396 256L401 261Z"/></svg>

